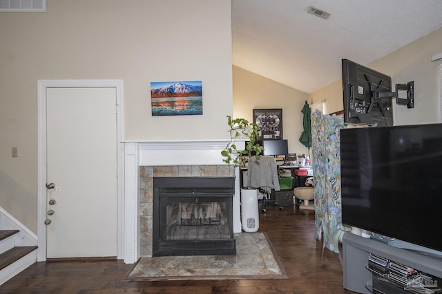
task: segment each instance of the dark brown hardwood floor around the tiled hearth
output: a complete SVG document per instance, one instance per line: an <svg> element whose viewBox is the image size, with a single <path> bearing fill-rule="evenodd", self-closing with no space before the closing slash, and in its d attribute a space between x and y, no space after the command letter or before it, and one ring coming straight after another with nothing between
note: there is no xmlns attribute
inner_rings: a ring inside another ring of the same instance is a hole
<svg viewBox="0 0 442 294"><path fill-rule="evenodd" d="M298 207L260 215L260 231L289 275L285 280L120 282L133 268L120 260L37 262L0 286L0 293L353 293L343 288L340 257L314 235L314 212Z"/></svg>

